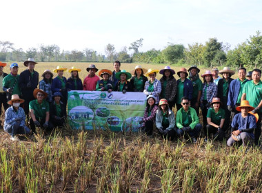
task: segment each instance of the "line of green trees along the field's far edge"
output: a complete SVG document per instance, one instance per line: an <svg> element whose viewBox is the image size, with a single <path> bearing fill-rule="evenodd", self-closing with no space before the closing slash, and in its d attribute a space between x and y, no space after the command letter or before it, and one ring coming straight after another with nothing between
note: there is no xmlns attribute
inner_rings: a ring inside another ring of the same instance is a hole
<svg viewBox="0 0 262 193"><path fill-rule="evenodd" d="M262 36L257 31L236 48L230 50L229 43L220 42L216 38L210 38L205 44L192 43L185 48L182 44L168 43L163 50L152 48L147 52L139 52L143 45L143 39L130 43L129 47L124 46L117 52L112 43L105 45L105 55L99 54L92 48L84 50L65 51L59 45L40 45L39 48L29 48L23 51L22 48L14 49L14 43L0 41L0 61L24 61L27 58L34 58L37 61L114 61L119 60L125 63L179 63L189 65L205 65L208 68L218 65L232 67L245 66L248 68L262 67ZM132 54L128 54L132 50Z"/></svg>

